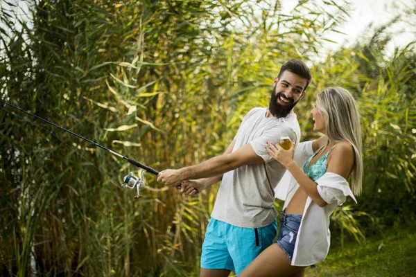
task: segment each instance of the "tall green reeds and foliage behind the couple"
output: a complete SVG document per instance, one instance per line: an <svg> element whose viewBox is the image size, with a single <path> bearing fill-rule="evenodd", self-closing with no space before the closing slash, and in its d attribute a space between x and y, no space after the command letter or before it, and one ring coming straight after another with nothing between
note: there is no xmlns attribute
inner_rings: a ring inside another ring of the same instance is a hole
<svg viewBox="0 0 416 277"><path fill-rule="evenodd" d="M180 168L221 154L245 112L268 105L281 64L299 57L313 71L296 107L302 141L318 136L309 111L325 87L349 89L362 116L363 194L334 213L333 243L414 221L416 56L413 44L392 55L385 46L415 7L319 61L349 1L300 1L289 15L280 5L45 0L24 21L5 1L0 98L157 170ZM198 274L216 186L183 197L146 175L135 201L117 185L129 164L1 107L0 272Z"/></svg>

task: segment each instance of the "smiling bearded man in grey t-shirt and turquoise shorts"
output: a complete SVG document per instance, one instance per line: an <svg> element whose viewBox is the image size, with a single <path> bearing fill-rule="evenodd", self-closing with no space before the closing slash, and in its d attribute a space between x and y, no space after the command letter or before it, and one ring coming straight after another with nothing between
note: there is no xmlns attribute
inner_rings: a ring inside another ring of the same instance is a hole
<svg viewBox="0 0 416 277"><path fill-rule="evenodd" d="M285 168L272 159L266 143L276 145L282 130L296 145L300 127L293 107L312 76L301 60L285 62L274 80L268 107L251 109L224 154L195 166L164 170L157 181L193 195L221 181L202 244L200 277L238 276L277 233L275 187ZM284 118L281 123L279 118Z"/></svg>

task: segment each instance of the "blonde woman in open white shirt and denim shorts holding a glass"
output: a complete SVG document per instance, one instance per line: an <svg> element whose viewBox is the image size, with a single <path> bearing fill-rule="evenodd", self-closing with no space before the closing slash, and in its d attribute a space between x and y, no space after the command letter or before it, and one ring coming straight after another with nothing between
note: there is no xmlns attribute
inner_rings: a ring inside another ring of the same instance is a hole
<svg viewBox="0 0 416 277"><path fill-rule="evenodd" d="M354 194L361 193L361 128L351 93L340 87L324 89L311 113L313 130L324 134L320 139L300 143L296 152L294 145L290 150L268 145L268 154L291 173L292 181L276 243L257 256L240 277L304 276L307 266L327 257L331 213L347 196L356 201Z"/></svg>

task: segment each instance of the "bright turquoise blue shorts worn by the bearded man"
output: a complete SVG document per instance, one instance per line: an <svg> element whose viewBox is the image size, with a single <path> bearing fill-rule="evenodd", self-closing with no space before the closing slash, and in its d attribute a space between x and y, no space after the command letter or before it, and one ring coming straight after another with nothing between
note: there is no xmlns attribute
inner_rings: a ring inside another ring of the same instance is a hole
<svg viewBox="0 0 416 277"><path fill-rule="evenodd" d="M201 267L228 269L240 275L277 234L277 222L263 228L242 228L211 218L202 243Z"/></svg>

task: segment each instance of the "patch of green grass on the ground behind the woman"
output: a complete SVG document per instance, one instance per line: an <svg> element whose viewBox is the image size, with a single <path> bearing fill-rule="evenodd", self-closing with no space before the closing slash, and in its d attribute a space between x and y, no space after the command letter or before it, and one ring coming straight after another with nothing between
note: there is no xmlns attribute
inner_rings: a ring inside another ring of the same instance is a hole
<svg viewBox="0 0 416 277"><path fill-rule="evenodd" d="M306 277L416 276L416 226L367 238L365 244L348 242L343 250L331 247L327 260Z"/></svg>

